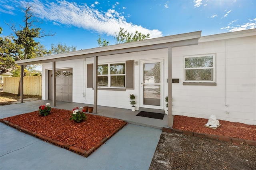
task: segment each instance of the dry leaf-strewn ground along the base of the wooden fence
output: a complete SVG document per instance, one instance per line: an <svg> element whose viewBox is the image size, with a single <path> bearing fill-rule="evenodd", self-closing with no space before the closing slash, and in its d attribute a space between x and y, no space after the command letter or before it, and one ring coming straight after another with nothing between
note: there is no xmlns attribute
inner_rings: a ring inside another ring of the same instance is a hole
<svg viewBox="0 0 256 170"><path fill-rule="evenodd" d="M24 99L28 98L38 98L38 100L42 99L42 96L38 95L24 95ZM0 92L0 106L4 105L12 105L13 102L18 101L20 99L20 96L17 94L12 94L12 93L6 93L6 92Z"/></svg>

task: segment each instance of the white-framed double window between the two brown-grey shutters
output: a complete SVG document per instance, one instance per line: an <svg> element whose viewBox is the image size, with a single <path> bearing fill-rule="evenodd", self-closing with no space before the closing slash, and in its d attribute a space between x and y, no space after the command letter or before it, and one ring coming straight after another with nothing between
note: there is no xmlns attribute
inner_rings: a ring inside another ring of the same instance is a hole
<svg viewBox="0 0 256 170"><path fill-rule="evenodd" d="M98 65L98 87L125 88L125 63Z"/></svg>

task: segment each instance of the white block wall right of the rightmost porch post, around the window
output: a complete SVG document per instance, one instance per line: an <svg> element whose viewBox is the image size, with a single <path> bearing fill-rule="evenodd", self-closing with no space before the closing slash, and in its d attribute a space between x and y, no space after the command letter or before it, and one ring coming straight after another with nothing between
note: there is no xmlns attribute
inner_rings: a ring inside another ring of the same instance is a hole
<svg viewBox="0 0 256 170"><path fill-rule="evenodd" d="M213 114L220 120L256 125L256 37L173 48L172 77L183 79L184 55L207 53L216 54L217 85L172 83L173 115L208 119Z"/></svg>

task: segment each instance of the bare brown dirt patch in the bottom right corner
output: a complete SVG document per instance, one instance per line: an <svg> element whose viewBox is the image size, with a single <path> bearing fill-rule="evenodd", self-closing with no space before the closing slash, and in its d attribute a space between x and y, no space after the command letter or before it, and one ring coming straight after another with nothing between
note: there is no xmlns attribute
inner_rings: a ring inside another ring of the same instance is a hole
<svg viewBox="0 0 256 170"><path fill-rule="evenodd" d="M255 170L256 146L162 132L150 170Z"/></svg>

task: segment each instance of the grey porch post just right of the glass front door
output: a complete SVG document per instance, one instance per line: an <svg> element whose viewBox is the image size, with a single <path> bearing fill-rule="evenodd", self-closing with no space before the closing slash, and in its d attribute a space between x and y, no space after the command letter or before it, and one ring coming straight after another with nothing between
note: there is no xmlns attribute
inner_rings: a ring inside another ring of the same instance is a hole
<svg viewBox="0 0 256 170"><path fill-rule="evenodd" d="M168 47L168 80L168 127L172 127L172 47Z"/></svg>

